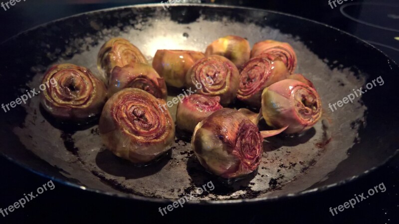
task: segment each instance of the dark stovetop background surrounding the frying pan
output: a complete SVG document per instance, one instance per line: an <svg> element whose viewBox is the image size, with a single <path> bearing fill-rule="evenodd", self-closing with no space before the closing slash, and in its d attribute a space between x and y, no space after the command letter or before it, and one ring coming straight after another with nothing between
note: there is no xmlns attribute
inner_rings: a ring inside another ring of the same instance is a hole
<svg viewBox="0 0 399 224"><path fill-rule="evenodd" d="M5 2L6 0L2 0ZM1 0L0 0L1 2ZM36 25L65 16L107 7L137 3L141 0L21 0L7 11L0 8L0 42ZM210 0L202 1L210 2ZM399 62L399 0L348 0L336 8L328 0L214 0L282 11L327 23L364 39ZM342 13L342 11L344 13ZM347 14L347 15L345 15ZM350 17L353 18L349 18ZM1 62L0 62L1 63ZM0 208L4 209L35 191L48 179L18 167L0 157ZM115 199L55 183L25 208L3 218L2 223L269 223L269 224L399 224L399 156L386 165L345 186L306 197L242 206L184 207L162 217L158 207ZM330 207L342 205L354 194L367 192L384 183L387 191L370 197L336 216Z"/></svg>

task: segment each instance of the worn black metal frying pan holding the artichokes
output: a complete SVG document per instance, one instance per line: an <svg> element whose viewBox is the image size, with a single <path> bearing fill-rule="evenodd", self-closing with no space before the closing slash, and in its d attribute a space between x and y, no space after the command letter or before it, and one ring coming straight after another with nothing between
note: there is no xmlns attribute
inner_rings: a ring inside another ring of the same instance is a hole
<svg viewBox="0 0 399 224"><path fill-rule="evenodd" d="M60 183L138 201L169 203L192 194L190 204L270 201L345 184L384 164L398 149L398 65L366 42L327 25L279 12L208 4L136 5L56 20L1 44L1 103L35 88L46 69L73 63L98 73L96 56L112 37L124 37L151 61L157 49L204 51L214 39L238 35L290 43L297 73L312 80L323 118L303 135L271 137L251 176L226 184L200 166L190 134L177 133L165 158L135 167L104 148L96 122L53 120L34 96L1 112L0 152L11 161ZM381 76L384 81L353 103L328 105ZM179 94L168 89L169 99ZM235 107L242 107L236 104ZM176 108L171 109L172 116ZM212 181L214 189L197 189Z"/></svg>

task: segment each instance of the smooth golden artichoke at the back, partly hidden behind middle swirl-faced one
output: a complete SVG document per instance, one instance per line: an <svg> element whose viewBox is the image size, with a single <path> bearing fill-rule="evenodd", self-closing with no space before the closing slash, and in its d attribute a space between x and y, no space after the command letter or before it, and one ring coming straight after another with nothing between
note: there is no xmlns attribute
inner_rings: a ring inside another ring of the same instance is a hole
<svg viewBox="0 0 399 224"><path fill-rule="evenodd" d="M205 56L220 55L232 61L237 68L241 68L249 60L251 46L249 42L239 36L225 36L213 41L207 48Z"/></svg>

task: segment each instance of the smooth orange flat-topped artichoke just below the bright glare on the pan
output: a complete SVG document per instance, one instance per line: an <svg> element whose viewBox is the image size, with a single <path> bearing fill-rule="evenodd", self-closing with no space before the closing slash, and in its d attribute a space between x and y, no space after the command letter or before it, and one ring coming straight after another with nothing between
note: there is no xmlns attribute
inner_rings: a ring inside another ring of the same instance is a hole
<svg viewBox="0 0 399 224"><path fill-rule="evenodd" d="M197 51L158 50L154 56L153 67L173 87L186 86L187 71L205 55Z"/></svg>

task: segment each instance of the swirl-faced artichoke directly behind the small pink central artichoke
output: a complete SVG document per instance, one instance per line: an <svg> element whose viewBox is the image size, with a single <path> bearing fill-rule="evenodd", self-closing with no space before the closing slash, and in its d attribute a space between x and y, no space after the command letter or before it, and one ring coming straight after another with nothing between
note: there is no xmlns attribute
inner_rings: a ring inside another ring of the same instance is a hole
<svg viewBox="0 0 399 224"><path fill-rule="evenodd" d="M238 78L238 69L230 60L211 55L193 65L187 73L186 81L189 87L197 89L197 93L210 97L218 96L221 105L228 105L237 95ZM204 82L209 79L212 82Z"/></svg>

